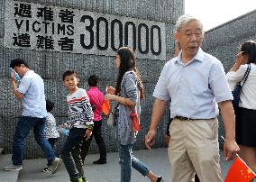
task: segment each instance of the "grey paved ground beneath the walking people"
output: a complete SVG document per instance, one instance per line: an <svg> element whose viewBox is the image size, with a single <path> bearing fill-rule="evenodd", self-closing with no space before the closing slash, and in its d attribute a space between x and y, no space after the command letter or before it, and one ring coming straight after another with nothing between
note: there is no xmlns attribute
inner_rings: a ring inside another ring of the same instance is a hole
<svg viewBox="0 0 256 182"><path fill-rule="evenodd" d="M151 168L151 170L164 177L169 181L169 159L167 149L154 149L154 150L135 150L134 155L142 159L142 161ZM6 155L5 155L6 156ZM7 156L6 156L7 157ZM9 160L10 155L8 155ZM93 165L92 162L98 158L98 154L88 155L87 162L84 166L85 173L89 182L118 182L120 178L120 166L118 164L118 153L107 154L107 164L105 165ZM221 166L223 176L225 177L227 169L232 162L226 162L223 160L223 153L221 151ZM5 159L5 163L7 160ZM0 161L1 166L3 164ZM69 175L64 165L59 167L56 174L51 175L49 173L41 172L41 169L46 165L45 159L26 159L24 160L24 169L19 174L18 182L65 182L69 181ZM9 172L1 171L1 182L12 182L11 180L4 180L6 175L10 175ZM132 182L148 182L147 177L142 177L140 173L133 169Z"/></svg>

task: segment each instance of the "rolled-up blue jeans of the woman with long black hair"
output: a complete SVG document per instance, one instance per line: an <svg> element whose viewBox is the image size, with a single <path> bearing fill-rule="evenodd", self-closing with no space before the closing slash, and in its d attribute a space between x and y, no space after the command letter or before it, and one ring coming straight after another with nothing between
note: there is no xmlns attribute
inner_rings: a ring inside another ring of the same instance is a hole
<svg viewBox="0 0 256 182"><path fill-rule="evenodd" d="M140 159L133 156L133 144L122 145L120 144L119 158L121 165L121 182L131 181L131 169L135 168L144 177L149 174L150 169L142 163Z"/></svg>

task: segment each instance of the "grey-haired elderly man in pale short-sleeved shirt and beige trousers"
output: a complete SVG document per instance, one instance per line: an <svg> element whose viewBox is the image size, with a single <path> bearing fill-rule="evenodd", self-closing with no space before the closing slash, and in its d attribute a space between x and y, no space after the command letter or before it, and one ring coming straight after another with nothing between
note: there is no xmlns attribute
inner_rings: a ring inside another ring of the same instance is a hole
<svg viewBox="0 0 256 182"><path fill-rule="evenodd" d="M188 14L180 16L174 37L181 51L160 73L153 93L156 100L145 144L151 149L157 124L171 100L171 181L193 181L196 171L200 181L222 181L216 118L218 105L224 120L224 158L233 159L239 150L234 140L233 96L224 68L218 59L201 50L204 32L197 18Z"/></svg>

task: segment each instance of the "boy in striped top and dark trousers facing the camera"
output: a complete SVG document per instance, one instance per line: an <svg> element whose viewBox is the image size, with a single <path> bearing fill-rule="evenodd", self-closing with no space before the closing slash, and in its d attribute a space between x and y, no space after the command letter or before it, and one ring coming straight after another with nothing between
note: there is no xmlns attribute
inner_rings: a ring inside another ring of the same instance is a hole
<svg viewBox="0 0 256 182"><path fill-rule="evenodd" d="M73 70L63 73L64 86L69 89L67 96L69 120L59 128L69 129L69 136L60 152L71 182L86 182L80 156L83 138L90 138L93 130L93 111L85 89L78 88L78 74Z"/></svg>

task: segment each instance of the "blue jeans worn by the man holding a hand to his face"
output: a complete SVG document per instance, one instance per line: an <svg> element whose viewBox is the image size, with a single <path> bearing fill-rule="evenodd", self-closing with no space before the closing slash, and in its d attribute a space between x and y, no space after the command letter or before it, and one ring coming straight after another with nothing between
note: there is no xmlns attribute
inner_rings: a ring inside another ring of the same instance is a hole
<svg viewBox="0 0 256 182"><path fill-rule="evenodd" d="M33 128L35 141L40 145L41 150L43 150L44 155L48 159L48 165L51 165L52 161L55 159L54 150L51 149L49 141L45 139L44 128L45 128L46 118L37 118L22 116L16 125L14 132L14 143L13 143L13 164L23 165L23 151L25 139L29 132Z"/></svg>

